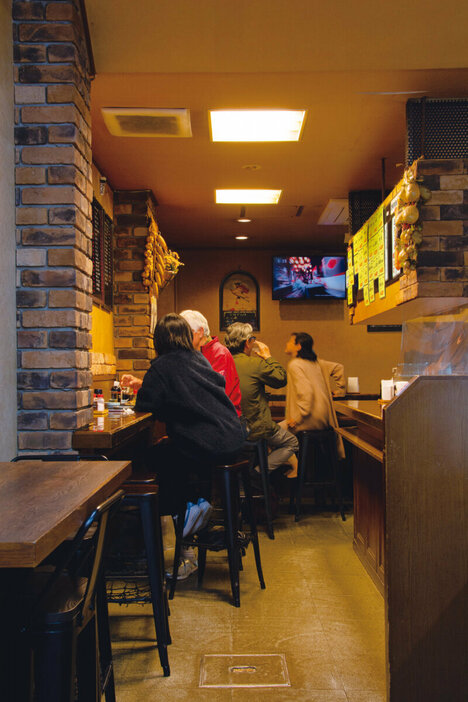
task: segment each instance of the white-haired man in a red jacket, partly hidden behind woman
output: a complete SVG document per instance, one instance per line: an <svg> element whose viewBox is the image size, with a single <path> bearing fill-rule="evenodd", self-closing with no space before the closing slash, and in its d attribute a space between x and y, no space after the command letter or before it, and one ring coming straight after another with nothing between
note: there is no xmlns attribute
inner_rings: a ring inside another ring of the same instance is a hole
<svg viewBox="0 0 468 702"><path fill-rule="evenodd" d="M240 417L241 393L239 387L239 376L237 374L234 359L228 349L223 346L218 337L210 335L208 320L198 310L184 310L180 313L190 325L193 334L193 348L201 351L213 370L220 373L226 382L226 395L236 408Z"/></svg>

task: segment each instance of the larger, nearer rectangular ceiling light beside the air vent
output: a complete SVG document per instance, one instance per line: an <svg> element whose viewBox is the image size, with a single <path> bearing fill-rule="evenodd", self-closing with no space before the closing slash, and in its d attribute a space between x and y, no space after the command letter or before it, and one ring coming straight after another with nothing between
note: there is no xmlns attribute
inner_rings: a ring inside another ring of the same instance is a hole
<svg viewBox="0 0 468 702"><path fill-rule="evenodd" d="M213 141L299 141L305 110L210 110Z"/></svg>

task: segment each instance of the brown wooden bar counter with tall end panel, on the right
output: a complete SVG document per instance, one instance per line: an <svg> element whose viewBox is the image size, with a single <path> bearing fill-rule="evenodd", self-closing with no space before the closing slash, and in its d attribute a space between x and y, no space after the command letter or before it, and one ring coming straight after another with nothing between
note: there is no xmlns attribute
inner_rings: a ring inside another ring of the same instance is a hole
<svg viewBox="0 0 468 702"><path fill-rule="evenodd" d="M381 409L337 402L355 427L354 548L385 595L388 702L468 690L468 376L421 376Z"/></svg>

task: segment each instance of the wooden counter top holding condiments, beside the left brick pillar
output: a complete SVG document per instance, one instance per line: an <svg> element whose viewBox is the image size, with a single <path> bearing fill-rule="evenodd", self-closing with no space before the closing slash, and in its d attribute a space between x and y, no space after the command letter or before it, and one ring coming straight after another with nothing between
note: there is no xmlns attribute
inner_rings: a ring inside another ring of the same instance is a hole
<svg viewBox="0 0 468 702"><path fill-rule="evenodd" d="M94 421L73 434L74 449L113 449L153 423L148 412L135 412L122 417L95 417Z"/></svg>

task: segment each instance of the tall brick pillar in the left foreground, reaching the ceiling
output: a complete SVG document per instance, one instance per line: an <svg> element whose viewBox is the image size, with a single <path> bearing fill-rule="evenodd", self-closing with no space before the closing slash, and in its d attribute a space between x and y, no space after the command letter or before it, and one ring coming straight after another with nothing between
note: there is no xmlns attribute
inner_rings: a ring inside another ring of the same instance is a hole
<svg viewBox="0 0 468 702"><path fill-rule="evenodd" d="M78 0L13 1L18 448L92 418L89 56Z"/></svg>

